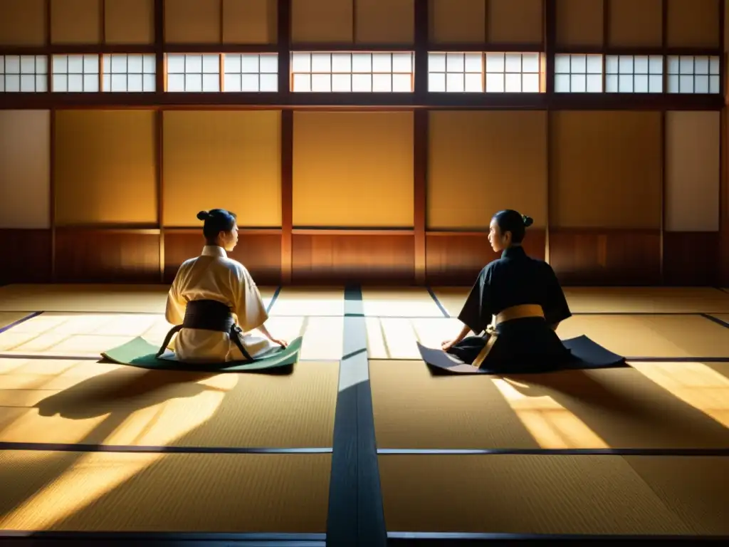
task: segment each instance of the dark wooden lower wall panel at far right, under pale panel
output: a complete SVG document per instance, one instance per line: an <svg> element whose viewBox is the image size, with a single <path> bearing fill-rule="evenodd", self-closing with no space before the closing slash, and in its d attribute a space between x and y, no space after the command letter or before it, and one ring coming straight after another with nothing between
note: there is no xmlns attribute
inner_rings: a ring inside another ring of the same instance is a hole
<svg viewBox="0 0 729 547"><path fill-rule="evenodd" d="M716 286L719 241L719 232L664 233L663 284Z"/></svg>

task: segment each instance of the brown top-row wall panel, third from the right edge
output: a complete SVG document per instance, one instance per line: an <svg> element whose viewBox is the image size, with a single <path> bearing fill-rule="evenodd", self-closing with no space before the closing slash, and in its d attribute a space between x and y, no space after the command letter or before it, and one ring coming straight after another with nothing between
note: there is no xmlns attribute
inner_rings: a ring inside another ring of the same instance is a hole
<svg viewBox="0 0 729 547"><path fill-rule="evenodd" d="M555 0L557 44L600 46L603 44L604 0Z"/></svg>

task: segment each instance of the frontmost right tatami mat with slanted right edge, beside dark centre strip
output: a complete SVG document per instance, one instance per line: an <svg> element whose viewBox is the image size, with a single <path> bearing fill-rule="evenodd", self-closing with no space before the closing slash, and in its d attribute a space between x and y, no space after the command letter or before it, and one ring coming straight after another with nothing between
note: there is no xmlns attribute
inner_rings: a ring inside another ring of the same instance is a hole
<svg viewBox="0 0 729 547"><path fill-rule="evenodd" d="M693 532L620 457L382 455L379 467L390 532Z"/></svg>

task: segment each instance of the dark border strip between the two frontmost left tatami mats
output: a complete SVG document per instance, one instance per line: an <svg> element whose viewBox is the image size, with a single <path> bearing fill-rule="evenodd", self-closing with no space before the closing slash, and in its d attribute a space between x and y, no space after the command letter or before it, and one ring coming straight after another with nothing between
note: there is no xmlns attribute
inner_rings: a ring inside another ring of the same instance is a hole
<svg viewBox="0 0 729 547"><path fill-rule="evenodd" d="M274 448L258 446L134 446L114 444L0 442L0 451L4 450L130 454L332 454L332 447Z"/></svg>

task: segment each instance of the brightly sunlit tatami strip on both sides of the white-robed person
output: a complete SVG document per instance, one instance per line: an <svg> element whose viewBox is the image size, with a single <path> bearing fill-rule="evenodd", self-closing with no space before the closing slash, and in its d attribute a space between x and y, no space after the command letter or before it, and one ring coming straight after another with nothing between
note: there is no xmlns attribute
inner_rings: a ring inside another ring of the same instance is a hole
<svg viewBox="0 0 729 547"><path fill-rule="evenodd" d="M162 344L172 327L160 314L69 314L49 312L0 333L0 352L56 357L96 357L136 336ZM343 317L270 317L266 327L284 340L303 336L301 359L342 356Z"/></svg>

